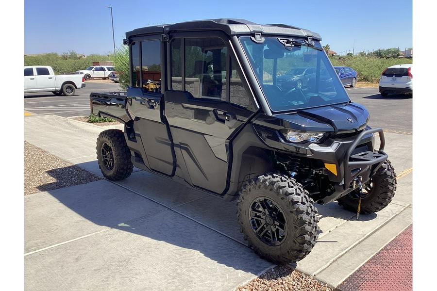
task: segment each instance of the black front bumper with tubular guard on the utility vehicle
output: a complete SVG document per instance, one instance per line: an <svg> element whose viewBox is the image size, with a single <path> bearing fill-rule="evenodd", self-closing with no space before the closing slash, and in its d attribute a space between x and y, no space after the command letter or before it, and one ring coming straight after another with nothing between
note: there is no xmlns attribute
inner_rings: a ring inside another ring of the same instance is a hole
<svg viewBox="0 0 437 291"><path fill-rule="evenodd" d="M324 173L334 185L335 191L322 197L322 204L337 200L358 187L357 178L365 183L388 155L384 152L385 138L383 129L363 130L356 136L331 139L324 144L299 145L286 142L279 132L270 131L259 126L254 127L258 137L270 148L275 148L286 155L314 159L324 167ZM374 133L379 133L380 147L374 151Z"/></svg>

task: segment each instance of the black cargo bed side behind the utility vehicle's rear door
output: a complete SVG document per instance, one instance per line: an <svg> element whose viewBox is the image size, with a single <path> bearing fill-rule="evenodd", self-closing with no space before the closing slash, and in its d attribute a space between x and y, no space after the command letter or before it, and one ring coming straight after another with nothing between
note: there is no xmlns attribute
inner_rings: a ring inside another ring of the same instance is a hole
<svg viewBox="0 0 437 291"><path fill-rule="evenodd" d="M89 105L91 114L108 117L121 123L131 120L126 107L126 92L91 93Z"/></svg>

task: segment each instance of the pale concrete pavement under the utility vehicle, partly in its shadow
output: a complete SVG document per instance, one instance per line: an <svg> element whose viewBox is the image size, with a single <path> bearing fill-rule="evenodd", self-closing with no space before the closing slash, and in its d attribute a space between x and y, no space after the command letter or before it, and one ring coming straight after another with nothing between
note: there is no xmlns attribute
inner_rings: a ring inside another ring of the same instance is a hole
<svg viewBox="0 0 437 291"><path fill-rule="evenodd" d="M107 127L56 115L24 126L25 141L102 177L95 147ZM336 287L411 225L412 136L385 135L398 174L392 203L359 221L335 202L317 205L322 233L296 270ZM26 290L230 291L273 266L243 241L235 202L138 169L24 201Z"/></svg>

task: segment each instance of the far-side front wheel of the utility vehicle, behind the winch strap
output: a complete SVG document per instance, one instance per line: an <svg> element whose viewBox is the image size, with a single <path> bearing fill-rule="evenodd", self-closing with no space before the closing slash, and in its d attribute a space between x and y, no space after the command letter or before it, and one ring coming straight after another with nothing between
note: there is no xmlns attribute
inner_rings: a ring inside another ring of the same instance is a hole
<svg viewBox="0 0 437 291"><path fill-rule="evenodd" d="M396 191L396 173L390 161L385 161L369 182L363 185L360 214L374 213L384 209L393 199ZM344 209L357 212L360 192L355 190L340 199Z"/></svg>

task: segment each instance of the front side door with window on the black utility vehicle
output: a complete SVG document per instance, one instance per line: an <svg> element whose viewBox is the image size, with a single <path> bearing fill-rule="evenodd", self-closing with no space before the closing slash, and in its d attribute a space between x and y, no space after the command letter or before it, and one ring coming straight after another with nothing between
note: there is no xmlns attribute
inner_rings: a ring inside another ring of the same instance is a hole
<svg viewBox="0 0 437 291"><path fill-rule="evenodd" d="M253 114L247 109L249 96L237 78L224 39L174 39L170 54L165 115L176 156L182 157L178 168L186 169L184 179L191 185L225 193L232 140Z"/></svg>

